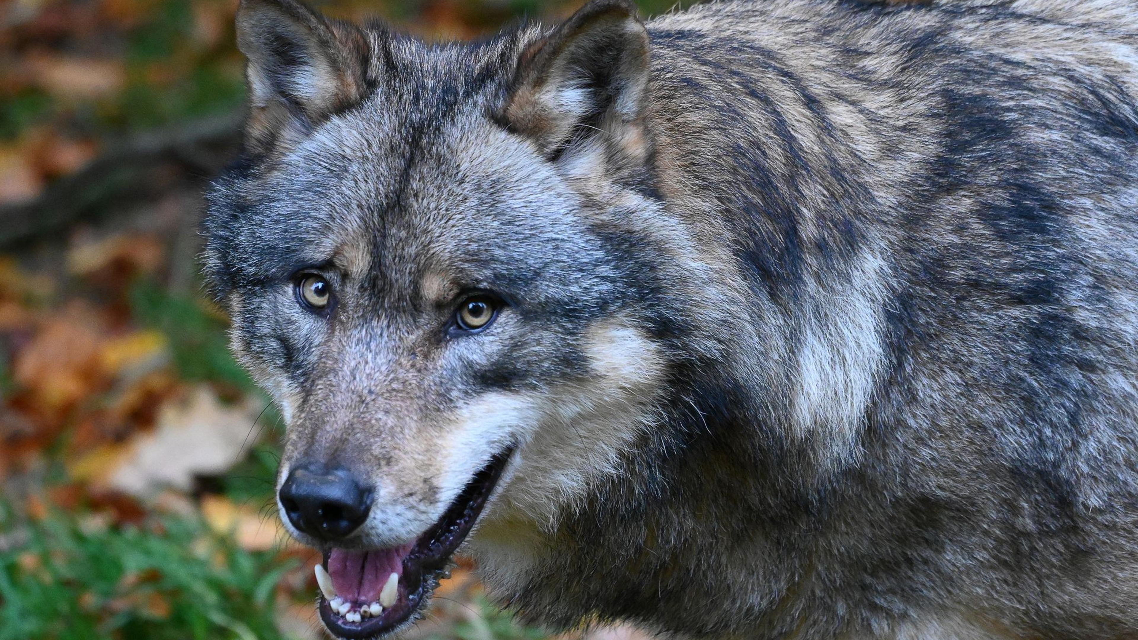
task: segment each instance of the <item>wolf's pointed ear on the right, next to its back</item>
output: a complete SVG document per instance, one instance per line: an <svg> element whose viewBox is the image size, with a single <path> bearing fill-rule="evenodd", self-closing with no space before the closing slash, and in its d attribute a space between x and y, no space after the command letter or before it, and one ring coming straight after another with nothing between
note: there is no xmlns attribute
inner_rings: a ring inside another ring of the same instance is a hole
<svg viewBox="0 0 1138 640"><path fill-rule="evenodd" d="M525 48L502 118L555 158L575 143L643 154L648 31L630 0L594 0Z"/></svg>

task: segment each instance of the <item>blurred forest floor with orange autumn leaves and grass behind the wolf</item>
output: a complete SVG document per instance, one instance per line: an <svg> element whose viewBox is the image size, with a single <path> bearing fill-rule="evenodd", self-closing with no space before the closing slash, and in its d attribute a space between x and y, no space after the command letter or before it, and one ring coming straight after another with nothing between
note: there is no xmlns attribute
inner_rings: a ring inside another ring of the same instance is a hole
<svg viewBox="0 0 1138 640"><path fill-rule="evenodd" d="M577 3L321 8L472 38ZM279 417L198 273L238 146L236 5L0 3L0 640L320 637L316 555L273 508ZM414 637L545 635L469 567L439 594Z"/></svg>

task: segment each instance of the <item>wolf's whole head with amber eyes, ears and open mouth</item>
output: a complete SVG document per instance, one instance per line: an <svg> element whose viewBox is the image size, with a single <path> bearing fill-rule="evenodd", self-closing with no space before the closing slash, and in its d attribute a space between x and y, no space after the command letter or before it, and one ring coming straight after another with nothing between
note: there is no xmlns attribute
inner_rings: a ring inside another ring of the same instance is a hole
<svg viewBox="0 0 1138 640"><path fill-rule="evenodd" d="M488 499L480 543L523 553L609 473L714 305L659 205L628 2L427 44L244 0L238 39L251 110L206 272L288 424L280 509L325 552L323 618L373 635Z"/></svg>

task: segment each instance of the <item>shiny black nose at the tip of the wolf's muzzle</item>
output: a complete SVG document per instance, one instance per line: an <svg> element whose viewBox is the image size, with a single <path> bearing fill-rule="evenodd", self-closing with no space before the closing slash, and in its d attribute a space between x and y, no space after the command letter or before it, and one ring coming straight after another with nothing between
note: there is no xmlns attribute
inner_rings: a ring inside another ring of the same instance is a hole
<svg viewBox="0 0 1138 640"><path fill-rule="evenodd" d="M321 540L344 538L368 518L371 495L345 469L294 467L280 490L292 526Z"/></svg>

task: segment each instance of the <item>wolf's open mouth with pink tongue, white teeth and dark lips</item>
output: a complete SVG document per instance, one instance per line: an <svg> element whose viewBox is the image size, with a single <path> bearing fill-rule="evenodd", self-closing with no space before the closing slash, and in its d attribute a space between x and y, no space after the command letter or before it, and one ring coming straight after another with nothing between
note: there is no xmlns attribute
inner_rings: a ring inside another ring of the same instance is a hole
<svg viewBox="0 0 1138 640"><path fill-rule="evenodd" d="M376 638L410 622L467 539L494 491L513 449L495 456L475 474L443 517L413 543L389 549L324 552L316 567L320 617L348 640Z"/></svg>

